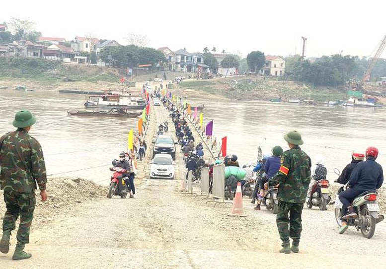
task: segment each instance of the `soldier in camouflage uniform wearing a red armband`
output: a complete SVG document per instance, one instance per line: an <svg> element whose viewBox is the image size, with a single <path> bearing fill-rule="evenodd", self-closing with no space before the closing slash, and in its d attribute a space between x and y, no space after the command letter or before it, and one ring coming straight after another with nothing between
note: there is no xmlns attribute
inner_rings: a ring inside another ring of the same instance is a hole
<svg viewBox="0 0 386 269"><path fill-rule="evenodd" d="M265 187L279 184L277 194L279 208L276 224L280 239L283 241L283 249L280 250L280 253L288 254L291 251L299 252L302 210L311 177L311 159L299 147L303 144L302 135L299 132L289 132L284 135L284 139L288 142L290 149L281 156L279 171L270 178ZM290 237L293 239L291 247Z"/></svg>

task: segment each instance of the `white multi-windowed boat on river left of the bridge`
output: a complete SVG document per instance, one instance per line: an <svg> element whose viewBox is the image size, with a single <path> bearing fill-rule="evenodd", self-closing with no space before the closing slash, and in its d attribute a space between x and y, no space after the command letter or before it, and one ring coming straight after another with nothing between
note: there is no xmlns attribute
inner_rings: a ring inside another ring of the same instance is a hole
<svg viewBox="0 0 386 269"><path fill-rule="evenodd" d="M118 95L90 95L88 100L84 103L86 108L124 108L124 109L144 109L146 107L145 100L139 98Z"/></svg>

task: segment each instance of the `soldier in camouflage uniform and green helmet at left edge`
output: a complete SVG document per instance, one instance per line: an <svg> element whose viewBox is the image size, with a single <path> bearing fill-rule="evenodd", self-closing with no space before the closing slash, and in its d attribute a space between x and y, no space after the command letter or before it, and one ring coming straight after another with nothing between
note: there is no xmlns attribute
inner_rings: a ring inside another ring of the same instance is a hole
<svg viewBox="0 0 386 269"><path fill-rule="evenodd" d="M36 118L29 111L19 111L13 121L17 130L0 137L0 187L4 191L6 205L0 252L8 253L9 237L20 215L13 260L28 259L32 256L23 250L24 244L29 243L29 229L36 202L36 184L42 201L47 201L43 151L39 142L28 134L35 122Z"/></svg>

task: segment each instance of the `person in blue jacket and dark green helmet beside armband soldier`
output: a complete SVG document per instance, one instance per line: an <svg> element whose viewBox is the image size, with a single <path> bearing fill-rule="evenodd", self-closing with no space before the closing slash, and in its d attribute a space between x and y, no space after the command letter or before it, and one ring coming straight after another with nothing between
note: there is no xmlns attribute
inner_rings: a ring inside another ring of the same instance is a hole
<svg viewBox="0 0 386 269"><path fill-rule="evenodd" d="M280 156L283 154L283 148L281 146L274 146L272 148L272 156L267 159L264 164L265 176L262 177L259 184L260 193L257 200L257 205L254 207L255 210L260 210L261 201L264 198L264 184L273 177L280 168Z"/></svg>

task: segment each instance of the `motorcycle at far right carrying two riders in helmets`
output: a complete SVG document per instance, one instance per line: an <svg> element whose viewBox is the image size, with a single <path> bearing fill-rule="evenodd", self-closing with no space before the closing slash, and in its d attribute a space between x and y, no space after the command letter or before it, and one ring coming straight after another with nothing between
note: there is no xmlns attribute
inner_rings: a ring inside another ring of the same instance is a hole
<svg viewBox="0 0 386 269"><path fill-rule="evenodd" d="M335 170L339 171L335 168L334 172ZM341 214L343 207L342 202L339 200L339 194L343 191L344 186L339 188L335 199L335 220L339 227L342 226ZM377 202L377 195L377 191L368 191L358 195L352 203L358 215L355 218L346 219L347 225L354 226L357 231L361 230L363 237L368 239L373 237L376 224L385 219L384 215L378 213L380 208Z"/></svg>

